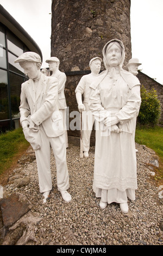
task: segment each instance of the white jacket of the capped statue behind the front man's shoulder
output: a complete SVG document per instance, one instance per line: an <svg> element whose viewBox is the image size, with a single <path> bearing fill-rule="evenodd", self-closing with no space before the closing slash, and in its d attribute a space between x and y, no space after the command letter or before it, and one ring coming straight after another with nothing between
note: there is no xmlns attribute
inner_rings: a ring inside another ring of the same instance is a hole
<svg viewBox="0 0 163 256"><path fill-rule="evenodd" d="M53 75L52 75L53 77ZM65 99L65 83L66 83L66 75L64 72L60 70L57 71L57 75L55 75L58 79L58 108L65 109L67 108L66 99Z"/></svg>

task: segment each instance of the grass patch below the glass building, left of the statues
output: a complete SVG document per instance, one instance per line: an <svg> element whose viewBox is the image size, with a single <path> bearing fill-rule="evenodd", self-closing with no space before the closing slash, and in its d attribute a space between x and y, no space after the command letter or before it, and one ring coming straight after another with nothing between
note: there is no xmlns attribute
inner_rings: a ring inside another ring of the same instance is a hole
<svg viewBox="0 0 163 256"><path fill-rule="evenodd" d="M13 163L29 147L29 143L24 138L22 128L14 131L2 133L0 135L0 175L10 168Z"/></svg>

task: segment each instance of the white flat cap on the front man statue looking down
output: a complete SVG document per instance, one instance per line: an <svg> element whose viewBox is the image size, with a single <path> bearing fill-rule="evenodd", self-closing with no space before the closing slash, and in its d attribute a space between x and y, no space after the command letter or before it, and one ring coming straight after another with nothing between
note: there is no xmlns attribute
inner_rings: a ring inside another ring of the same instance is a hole
<svg viewBox="0 0 163 256"><path fill-rule="evenodd" d="M15 63L17 62L36 62L36 63L42 63L41 57L39 54L37 54L36 52L24 52L23 54L21 54L21 56L19 56L16 60Z"/></svg>

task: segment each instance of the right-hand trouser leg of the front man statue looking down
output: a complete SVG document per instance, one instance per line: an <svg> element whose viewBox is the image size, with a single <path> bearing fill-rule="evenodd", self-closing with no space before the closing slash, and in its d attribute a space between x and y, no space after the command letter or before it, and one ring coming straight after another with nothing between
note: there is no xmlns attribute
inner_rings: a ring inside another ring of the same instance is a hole
<svg viewBox="0 0 163 256"><path fill-rule="evenodd" d="M66 160L65 134L50 138L57 168L57 186L59 191L69 188L69 175Z"/></svg>

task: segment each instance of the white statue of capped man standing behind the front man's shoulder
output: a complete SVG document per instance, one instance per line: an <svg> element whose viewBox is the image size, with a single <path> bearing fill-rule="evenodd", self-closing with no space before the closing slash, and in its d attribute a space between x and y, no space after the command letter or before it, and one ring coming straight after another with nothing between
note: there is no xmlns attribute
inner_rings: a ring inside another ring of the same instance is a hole
<svg viewBox="0 0 163 256"><path fill-rule="evenodd" d="M52 71L52 76L58 79L58 107L59 111L62 113L64 126L65 126L65 139L66 139L66 148L68 148L68 136L66 129L66 99L65 99L65 83L66 83L66 74L59 70L60 61L57 57L51 57L46 60L46 63L49 65L49 70Z"/></svg>

